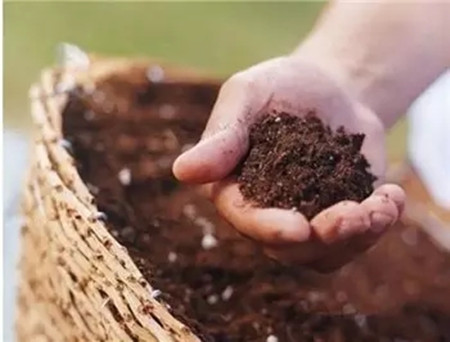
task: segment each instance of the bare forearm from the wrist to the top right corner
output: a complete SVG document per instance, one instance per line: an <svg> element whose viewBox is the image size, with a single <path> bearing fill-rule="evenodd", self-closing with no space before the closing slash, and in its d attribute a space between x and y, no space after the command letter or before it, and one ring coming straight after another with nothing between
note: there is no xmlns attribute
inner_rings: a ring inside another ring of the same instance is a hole
<svg viewBox="0 0 450 342"><path fill-rule="evenodd" d="M450 66L450 3L333 2L294 55L335 77L390 127Z"/></svg>

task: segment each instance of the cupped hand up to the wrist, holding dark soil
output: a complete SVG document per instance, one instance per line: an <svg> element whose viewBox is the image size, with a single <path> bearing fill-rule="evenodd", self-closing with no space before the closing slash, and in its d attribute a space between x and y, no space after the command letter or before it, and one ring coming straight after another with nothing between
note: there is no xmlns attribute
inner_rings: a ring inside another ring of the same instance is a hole
<svg viewBox="0 0 450 342"><path fill-rule="evenodd" d="M315 109L332 129L364 133L362 153L378 177L362 203L343 201L310 222L298 212L257 208L246 202L231 175L249 148L249 127L271 111L305 115ZM382 184L386 169L384 127L351 91L311 62L294 57L272 59L232 76L222 86L200 142L175 161L175 176L204 184L203 193L242 234L264 244L272 257L330 270L371 246L399 218L405 195Z"/></svg>

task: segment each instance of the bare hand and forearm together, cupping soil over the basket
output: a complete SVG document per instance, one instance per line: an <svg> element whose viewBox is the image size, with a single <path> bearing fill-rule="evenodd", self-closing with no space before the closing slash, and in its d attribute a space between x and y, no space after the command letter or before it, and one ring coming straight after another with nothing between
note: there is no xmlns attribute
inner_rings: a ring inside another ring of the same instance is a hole
<svg viewBox="0 0 450 342"><path fill-rule="evenodd" d="M399 219L405 194L384 183L385 132L450 65L450 40L444 37L450 4L328 7L292 54L223 84L200 142L173 166L179 180L201 184L218 212L268 255L320 271L347 263ZM249 127L273 110L302 116L310 108L334 129L366 135L362 153L378 177L376 190L361 203L337 203L311 221L299 212L246 202L230 173L248 150Z"/></svg>

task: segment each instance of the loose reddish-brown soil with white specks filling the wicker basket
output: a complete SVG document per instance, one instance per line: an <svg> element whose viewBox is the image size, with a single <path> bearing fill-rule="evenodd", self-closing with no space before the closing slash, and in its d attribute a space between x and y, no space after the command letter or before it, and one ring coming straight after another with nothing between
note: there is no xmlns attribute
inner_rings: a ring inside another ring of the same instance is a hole
<svg viewBox="0 0 450 342"><path fill-rule="evenodd" d="M145 71L73 92L63 128L108 229L174 316L205 341L450 341L450 258L418 227L330 275L272 262L171 173L218 87Z"/></svg>

